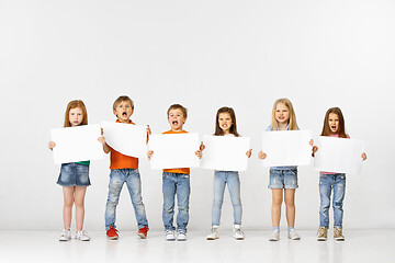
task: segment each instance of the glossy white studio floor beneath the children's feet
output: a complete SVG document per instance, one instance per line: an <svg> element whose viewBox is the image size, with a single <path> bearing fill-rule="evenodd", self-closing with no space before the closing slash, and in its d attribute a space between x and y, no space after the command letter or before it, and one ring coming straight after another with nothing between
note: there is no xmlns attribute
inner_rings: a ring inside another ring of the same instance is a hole
<svg viewBox="0 0 395 263"><path fill-rule="evenodd" d="M146 240L121 231L111 241L104 231L90 231L91 241L58 241L58 231L0 230L0 262L395 262L395 230L346 230L346 241L316 241L315 230L300 230L300 241L268 241L269 231L245 230L236 241L223 229L221 238L205 240L206 232L190 231L188 241L165 241L162 231L149 231ZM331 235L331 231L330 231Z"/></svg>

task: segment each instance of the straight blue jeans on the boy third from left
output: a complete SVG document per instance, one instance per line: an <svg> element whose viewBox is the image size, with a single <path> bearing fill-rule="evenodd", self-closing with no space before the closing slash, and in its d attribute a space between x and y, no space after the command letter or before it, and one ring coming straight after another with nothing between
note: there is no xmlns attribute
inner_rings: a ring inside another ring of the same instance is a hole
<svg viewBox="0 0 395 263"><path fill-rule="evenodd" d="M165 230L174 230L174 199L177 195L177 231L187 232L189 221L189 196L191 192L190 175L183 173L163 172L162 175Z"/></svg>

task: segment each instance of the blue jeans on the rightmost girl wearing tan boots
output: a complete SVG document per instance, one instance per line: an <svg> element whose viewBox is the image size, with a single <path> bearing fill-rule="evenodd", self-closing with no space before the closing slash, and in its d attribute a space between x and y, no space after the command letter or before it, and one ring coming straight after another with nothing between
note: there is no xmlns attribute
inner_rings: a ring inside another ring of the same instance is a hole
<svg viewBox="0 0 395 263"><path fill-rule="evenodd" d="M346 174L319 174L319 226L329 228L330 194L334 188L334 217L335 228L342 228L342 204L346 193Z"/></svg>

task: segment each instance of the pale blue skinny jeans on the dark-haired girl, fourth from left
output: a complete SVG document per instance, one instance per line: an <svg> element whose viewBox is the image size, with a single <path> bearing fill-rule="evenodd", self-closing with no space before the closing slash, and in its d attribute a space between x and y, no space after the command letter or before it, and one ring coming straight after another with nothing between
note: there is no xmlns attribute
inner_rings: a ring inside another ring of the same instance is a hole
<svg viewBox="0 0 395 263"><path fill-rule="evenodd" d="M215 171L214 174L214 202L212 211L212 225L219 226L221 209L224 202L224 192L226 183L228 185L232 205L234 207L234 224L241 225L241 198L240 198L240 179L238 172Z"/></svg>

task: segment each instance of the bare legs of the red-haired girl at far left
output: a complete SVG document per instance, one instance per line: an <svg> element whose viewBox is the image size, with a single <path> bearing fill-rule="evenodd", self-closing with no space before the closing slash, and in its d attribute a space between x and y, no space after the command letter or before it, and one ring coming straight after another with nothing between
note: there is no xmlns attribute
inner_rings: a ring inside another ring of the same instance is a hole
<svg viewBox="0 0 395 263"><path fill-rule="evenodd" d="M64 224L65 229L70 229L71 226L71 215L72 215L72 204L76 205L76 222L77 231L82 230L83 227L83 217L84 217L84 195L87 192L86 186L64 186Z"/></svg>

